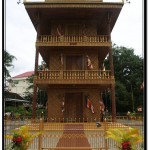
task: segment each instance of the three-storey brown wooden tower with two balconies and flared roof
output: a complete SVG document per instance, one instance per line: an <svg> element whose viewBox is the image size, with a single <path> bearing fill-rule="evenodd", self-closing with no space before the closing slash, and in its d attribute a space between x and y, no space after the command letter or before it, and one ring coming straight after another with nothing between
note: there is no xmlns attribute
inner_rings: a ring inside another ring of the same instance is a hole
<svg viewBox="0 0 150 150"><path fill-rule="evenodd" d="M45 0L24 1L24 5L37 31L33 118L37 88L47 91L48 120L76 121L98 119L101 94L109 89L115 121L111 31L124 2ZM38 70L39 55L47 70ZM105 69L106 56L109 68Z"/></svg>

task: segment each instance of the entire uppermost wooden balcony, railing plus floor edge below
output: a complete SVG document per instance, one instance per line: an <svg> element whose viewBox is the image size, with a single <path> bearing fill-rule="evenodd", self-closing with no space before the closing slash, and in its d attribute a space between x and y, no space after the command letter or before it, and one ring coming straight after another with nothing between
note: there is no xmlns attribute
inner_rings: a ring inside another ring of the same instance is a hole
<svg viewBox="0 0 150 150"><path fill-rule="evenodd" d="M108 35L55 36L41 35L36 46L111 46Z"/></svg>

